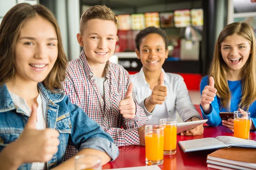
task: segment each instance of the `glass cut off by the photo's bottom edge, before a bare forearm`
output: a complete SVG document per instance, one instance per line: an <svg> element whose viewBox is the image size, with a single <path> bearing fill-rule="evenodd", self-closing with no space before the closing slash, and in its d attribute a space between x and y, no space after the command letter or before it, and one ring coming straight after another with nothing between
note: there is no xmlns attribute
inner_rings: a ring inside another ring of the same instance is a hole
<svg viewBox="0 0 256 170"><path fill-rule="evenodd" d="M75 170L102 170L101 160L95 155L75 156Z"/></svg>

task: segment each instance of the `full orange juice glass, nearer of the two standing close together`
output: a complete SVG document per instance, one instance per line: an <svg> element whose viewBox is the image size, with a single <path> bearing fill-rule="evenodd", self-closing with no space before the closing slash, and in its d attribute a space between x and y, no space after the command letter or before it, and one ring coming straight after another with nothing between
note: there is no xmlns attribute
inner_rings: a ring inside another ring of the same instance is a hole
<svg viewBox="0 0 256 170"><path fill-rule="evenodd" d="M146 164L163 164L163 127L158 125L145 126Z"/></svg>

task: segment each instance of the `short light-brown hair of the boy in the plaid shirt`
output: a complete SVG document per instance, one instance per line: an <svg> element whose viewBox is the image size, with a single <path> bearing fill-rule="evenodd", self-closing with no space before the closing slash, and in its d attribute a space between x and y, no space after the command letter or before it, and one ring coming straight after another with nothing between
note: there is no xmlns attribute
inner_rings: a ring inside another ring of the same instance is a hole
<svg viewBox="0 0 256 170"><path fill-rule="evenodd" d="M80 19L80 33L84 33L84 28L89 20L100 19L113 21L117 26L115 13L105 5L96 5L88 8L81 16Z"/></svg>

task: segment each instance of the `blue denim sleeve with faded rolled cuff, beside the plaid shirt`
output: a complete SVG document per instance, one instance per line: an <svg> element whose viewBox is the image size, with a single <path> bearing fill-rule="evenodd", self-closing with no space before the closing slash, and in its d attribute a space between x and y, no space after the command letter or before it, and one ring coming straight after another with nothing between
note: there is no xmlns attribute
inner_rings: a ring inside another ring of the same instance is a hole
<svg viewBox="0 0 256 170"><path fill-rule="evenodd" d="M79 106L72 104L68 97L66 100L70 110L71 141L76 149L91 148L100 150L111 157L111 161L119 155L119 149L111 136L93 119L90 119Z"/></svg>

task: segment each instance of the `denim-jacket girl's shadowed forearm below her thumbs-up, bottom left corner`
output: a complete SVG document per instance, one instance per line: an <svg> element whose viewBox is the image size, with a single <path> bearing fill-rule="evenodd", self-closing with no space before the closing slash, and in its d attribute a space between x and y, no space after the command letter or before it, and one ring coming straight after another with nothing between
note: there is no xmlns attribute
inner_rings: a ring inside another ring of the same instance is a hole
<svg viewBox="0 0 256 170"><path fill-rule="evenodd" d="M0 152L0 170L17 170L21 164L17 148L9 144Z"/></svg>

